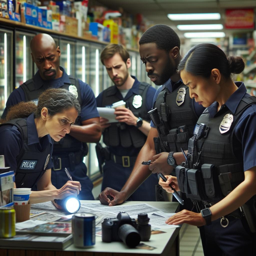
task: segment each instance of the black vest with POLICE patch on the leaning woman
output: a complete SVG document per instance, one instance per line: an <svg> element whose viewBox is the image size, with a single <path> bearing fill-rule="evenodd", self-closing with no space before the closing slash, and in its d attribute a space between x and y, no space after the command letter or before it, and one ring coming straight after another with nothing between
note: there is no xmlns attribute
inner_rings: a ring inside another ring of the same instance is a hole
<svg viewBox="0 0 256 256"><path fill-rule="evenodd" d="M28 145L27 121L25 119L10 120L2 125L15 125L23 138L23 148L16 157L16 187L33 188L45 173L45 168L50 159L51 145L48 143L43 151L39 151L35 144Z"/></svg>

